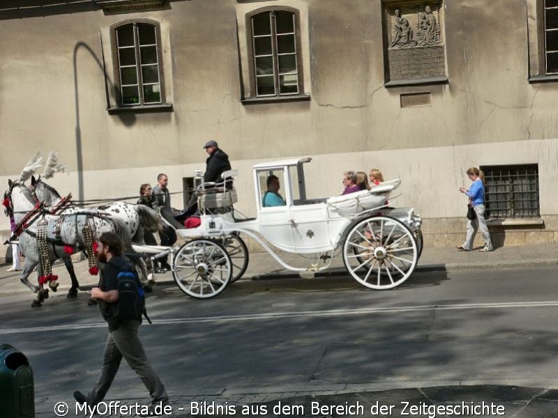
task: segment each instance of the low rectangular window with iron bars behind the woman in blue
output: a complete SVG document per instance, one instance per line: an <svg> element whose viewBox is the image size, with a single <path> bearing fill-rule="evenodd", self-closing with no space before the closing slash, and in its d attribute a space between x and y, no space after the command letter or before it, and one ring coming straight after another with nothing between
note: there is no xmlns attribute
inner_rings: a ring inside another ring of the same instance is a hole
<svg viewBox="0 0 558 418"><path fill-rule="evenodd" d="M481 167L485 206L492 218L538 217L538 164Z"/></svg>

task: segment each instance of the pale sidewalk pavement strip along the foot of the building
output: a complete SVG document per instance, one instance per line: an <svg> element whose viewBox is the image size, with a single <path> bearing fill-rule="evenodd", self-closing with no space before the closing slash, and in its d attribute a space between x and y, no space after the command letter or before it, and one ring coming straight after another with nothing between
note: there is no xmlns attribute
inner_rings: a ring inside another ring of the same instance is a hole
<svg viewBox="0 0 558 418"><path fill-rule="evenodd" d="M478 247L474 251L460 251L455 247L425 247L421 258L418 260L417 270L452 270L463 268L513 268L525 265L556 265L558 264L558 246L556 245L529 245L523 247L500 247L492 252L480 252ZM299 254L285 253L280 251L278 256L287 264L296 267L307 267L306 258ZM299 273L285 270L282 266L266 252L252 252L249 255L248 270L241 280L248 279L272 279L299 277ZM23 261L23 259L22 259ZM322 261L319 265L323 265ZM29 288L20 282L21 272L7 272L10 266L3 265L0 269L0 295L8 293L29 293ZM88 272L87 261L74 263L75 274L80 282L81 288L91 288L98 282L97 276L91 276ZM60 277L59 291L65 292L70 288L68 272L61 261L54 263L53 274ZM329 270L319 272L320 275L343 275L347 274L343 267L342 256L338 255L331 263ZM301 273L302 277L312 275L310 272ZM31 274L29 279L36 284L36 273ZM157 274L158 284L173 284L172 273Z"/></svg>

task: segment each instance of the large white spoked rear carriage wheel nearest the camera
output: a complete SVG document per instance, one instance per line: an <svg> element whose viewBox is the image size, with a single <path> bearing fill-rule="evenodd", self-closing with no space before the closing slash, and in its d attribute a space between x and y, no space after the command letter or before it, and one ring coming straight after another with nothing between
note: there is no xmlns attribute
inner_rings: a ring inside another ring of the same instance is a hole
<svg viewBox="0 0 558 418"><path fill-rule="evenodd" d="M347 271L360 284L372 289L399 286L412 274L417 260L413 233L391 217L361 220L349 230L343 245Z"/></svg>

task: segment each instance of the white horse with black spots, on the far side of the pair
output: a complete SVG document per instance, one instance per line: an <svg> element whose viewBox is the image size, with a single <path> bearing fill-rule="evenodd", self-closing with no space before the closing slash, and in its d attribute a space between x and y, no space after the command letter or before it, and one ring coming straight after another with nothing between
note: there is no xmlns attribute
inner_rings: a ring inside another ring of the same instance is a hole
<svg viewBox="0 0 558 418"><path fill-rule="evenodd" d="M54 189L51 185L45 183L41 176L35 178L31 177L31 190L34 192L38 201L42 202L47 208L55 208L58 206L63 198L60 196L59 192ZM60 215L66 215L67 213L73 213L80 210L76 206L69 206L62 208L59 211ZM93 213L103 213L109 215L112 219L120 219L125 225L129 236L134 244L144 245L144 229L151 232L159 231L163 222L161 221L159 215L154 210L148 208L144 205L133 205L131 203L113 201L109 202L103 206L89 208L86 212ZM142 258L137 259L137 263L144 263ZM153 284L153 265L147 263L147 271L144 271L140 267L142 284L146 290L151 290L151 284Z"/></svg>

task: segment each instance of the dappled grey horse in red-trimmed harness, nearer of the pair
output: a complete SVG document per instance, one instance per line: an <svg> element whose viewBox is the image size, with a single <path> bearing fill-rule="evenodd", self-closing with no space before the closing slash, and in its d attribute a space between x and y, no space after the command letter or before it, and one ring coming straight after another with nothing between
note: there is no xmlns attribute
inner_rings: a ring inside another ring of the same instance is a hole
<svg viewBox="0 0 558 418"><path fill-rule="evenodd" d="M22 222L28 214L39 213L37 209L40 208L40 203L25 185L8 180L8 186L9 189L4 194L4 204L7 205L8 210L13 212L15 222L18 225L23 224L20 245L25 254L25 263L20 280L31 291L38 293L31 307L40 307L48 297L48 289L45 289L41 282L38 283L38 286L33 286L27 279L35 267L37 267L39 277L43 274L39 264L38 225L37 222L32 222L29 219L27 221L31 222L30 224ZM47 221L47 241L49 242L47 248L51 263L58 258L69 258L70 254L66 251L68 246L84 248L87 245L88 240L84 237L82 231L86 224L90 226L92 224L96 235L106 231L116 233L122 240L124 249L126 251L132 249L130 234L126 224L121 219L112 219L107 215L93 212L75 212L68 215L50 215L43 212L39 216ZM75 283L77 284L77 280Z"/></svg>

